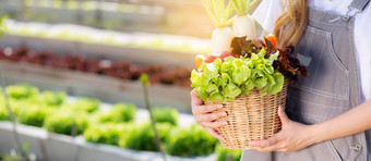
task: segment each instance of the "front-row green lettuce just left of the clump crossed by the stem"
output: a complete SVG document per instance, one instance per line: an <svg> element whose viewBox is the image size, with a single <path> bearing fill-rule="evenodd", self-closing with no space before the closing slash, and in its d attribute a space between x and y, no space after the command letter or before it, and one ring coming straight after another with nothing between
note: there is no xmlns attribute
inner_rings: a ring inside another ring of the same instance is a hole
<svg viewBox="0 0 371 161"><path fill-rule="evenodd" d="M129 124L95 124L86 128L84 137L86 141L118 146L121 135L130 132L131 128L132 125Z"/></svg>

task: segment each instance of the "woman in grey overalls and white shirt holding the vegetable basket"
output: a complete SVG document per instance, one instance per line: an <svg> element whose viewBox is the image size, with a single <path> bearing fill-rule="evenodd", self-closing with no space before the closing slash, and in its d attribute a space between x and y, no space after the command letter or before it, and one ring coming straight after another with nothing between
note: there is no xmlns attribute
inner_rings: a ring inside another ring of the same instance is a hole
<svg viewBox="0 0 371 161"><path fill-rule="evenodd" d="M280 47L296 46L309 77L291 82L283 129L250 144L243 161L371 160L371 3L370 0L263 0L253 17ZM275 22L275 23L274 23ZM207 132L226 115L210 113L192 91L192 112Z"/></svg>

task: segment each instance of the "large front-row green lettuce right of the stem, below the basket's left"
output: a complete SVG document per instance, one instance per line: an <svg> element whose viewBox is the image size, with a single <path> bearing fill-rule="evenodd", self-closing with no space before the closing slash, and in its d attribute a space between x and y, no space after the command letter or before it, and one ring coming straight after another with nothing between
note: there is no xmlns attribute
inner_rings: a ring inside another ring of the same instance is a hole
<svg viewBox="0 0 371 161"><path fill-rule="evenodd" d="M188 128L176 128L171 132L166 144L168 154L193 157L211 154L215 150L217 140L200 125Z"/></svg>

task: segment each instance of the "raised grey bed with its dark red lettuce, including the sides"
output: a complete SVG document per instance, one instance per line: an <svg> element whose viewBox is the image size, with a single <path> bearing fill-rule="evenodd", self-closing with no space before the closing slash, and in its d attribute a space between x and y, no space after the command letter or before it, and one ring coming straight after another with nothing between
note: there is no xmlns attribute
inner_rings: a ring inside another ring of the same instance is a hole
<svg viewBox="0 0 371 161"><path fill-rule="evenodd" d="M107 102L131 101L144 107L142 86L133 79L143 71L153 71L152 82L157 82L149 87L153 104L172 106L190 112L191 89L184 88L189 85L187 69L193 64L190 54L10 35L0 40L0 45L14 47L5 52L20 53L5 55L2 52L0 65L8 83L29 83L41 89L63 90L70 95L95 97ZM33 50L24 52L25 49L19 48L15 51L22 45ZM59 62L55 61L56 58ZM68 58L74 62L67 61ZM108 67L110 70L99 70L99 62L103 65L111 64ZM127 70L133 66L132 72L130 69L125 71L125 66ZM156 72L156 69L163 72ZM128 79L122 79L124 77Z"/></svg>

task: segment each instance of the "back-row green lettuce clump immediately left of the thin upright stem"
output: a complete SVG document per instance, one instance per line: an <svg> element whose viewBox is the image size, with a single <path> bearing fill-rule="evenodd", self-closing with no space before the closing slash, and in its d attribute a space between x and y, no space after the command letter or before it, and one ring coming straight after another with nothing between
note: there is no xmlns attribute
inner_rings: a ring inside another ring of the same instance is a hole
<svg viewBox="0 0 371 161"><path fill-rule="evenodd" d="M133 121L136 113L136 107L130 103L117 103L109 111L98 111L95 115L98 122L130 122Z"/></svg>

